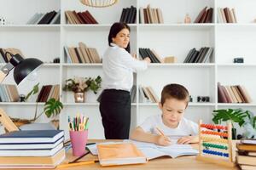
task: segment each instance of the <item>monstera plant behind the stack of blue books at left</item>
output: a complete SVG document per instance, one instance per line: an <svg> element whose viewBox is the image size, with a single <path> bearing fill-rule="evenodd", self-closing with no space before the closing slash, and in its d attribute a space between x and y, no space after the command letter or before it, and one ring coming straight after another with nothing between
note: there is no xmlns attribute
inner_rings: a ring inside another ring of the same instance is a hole
<svg viewBox="0 0 256 170"><path fill-rule="evenodd" d="M39 83L36 84L32 88L32 90L26 95L25 100L29 99L32 95L38 94L38 91L39 91L38 86L39 86ZM22 119L17 119L17 118L11 118L11 119L13 122L15 122L16 126L19 127L22 124L36 122L40 116L45 114L45 116L47 116L48 118L50 118L50 117L54 118L51 122L55 125L56 128L58 128L59 120L55 119L55 117L61 113L62 109L63 109L63 105L59 100L50 98L44 103L44 111L42 111L39 115L38 115L38 102L37 102L36 111L35 111L33 119L31 119L31 120L22 120Z"/></svg>

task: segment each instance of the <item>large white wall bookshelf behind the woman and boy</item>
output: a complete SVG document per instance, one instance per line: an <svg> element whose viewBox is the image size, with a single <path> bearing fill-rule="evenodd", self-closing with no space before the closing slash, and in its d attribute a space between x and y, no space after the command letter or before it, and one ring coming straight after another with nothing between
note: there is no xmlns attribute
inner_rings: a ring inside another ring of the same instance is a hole
<svg viewBox="0 0 256 170"><path fill-rule="evenodd" d="M138 10L146 8L161 8L164 24L138 23ZM4 4L4 5L3 5ZM119 21L122 8L137 7L137 22L131 26L131 54L138 54L138 48L153 48L161 57L176 56L175 64L149 64L148 70L134 75L134 83L151 86L160 97L160 91L166 83L177 82L189 89L193 97L189 103L185 116L195 122L199 118L210 123L212 110L222 108L242 108L256 111L256 12L253 0L119 0L119 3L109 8L85 7L79 0L0 0L2 16L10 24L0 26L0 48L20 48L28 57L36 57L46 62L38 72L40 85L60 84L60 97L64 110L60 115L61 129L67 132L67 116L83 113L90 117L90 139L102 139L103 127L99 112L98 96L91 92L87 95L87 102L74 103L73 93L61 90L67 78L73 76L96 77L102 76L102 64L70 64L64 53L64 46L78 46L84 42L87 46L96 48L100 56L108 47L108 31L113 22ZM185 14L189 14L193 22L201 9L212 7L212 23L183 24ZM217 8L236 8L238 23L218 23ZM31 10L20 10L30 8ZM10 10L11 9L11 10ZM59 25L26 25L33 14L37 12L58 11L61 9L61 24ZM99 25L70 25L66 23L65 11L89 10ZM13 12L17 11L17 13ZM213 47L210 63L185 63L183 60L191 48ZM60 57L60 64L51 63ZM245 63L233 64L232 59L243 57ZM49 76L50 75L50 76ZM103 80L104 81L104 80ZM250 104L220 104L218 103L217 82L224 85L242 84L247 88L253 98ZM4 83L14 83L11 75ZM32 89L32 84L19 87L20 94L26 94ZM138 92L138 88L137 88ZM210 96L209 103L197 103L196 97ZM139 103L131 104L131 128L139 125L151 115L160 113L157 104ZM0 103L9 116L32 118L35 111L35 102L28 103ZM38 109L44 104L40 103ZM22 111L20 113L20 111ZM23 112L26 111L26 112ZM49 120L42 116L39 122ZM66 133L66 137L68 133Z"/></svg>

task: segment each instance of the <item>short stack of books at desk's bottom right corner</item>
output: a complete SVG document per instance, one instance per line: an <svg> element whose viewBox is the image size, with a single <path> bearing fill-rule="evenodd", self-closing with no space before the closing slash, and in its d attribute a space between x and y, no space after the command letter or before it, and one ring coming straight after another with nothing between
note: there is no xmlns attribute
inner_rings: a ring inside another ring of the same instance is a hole
<svg viewBox="0 0 256 170"><path fill-rule="evenodd" d="M256 169L256 139L242 139L236 144L236 161L243 170Z"/></svg>

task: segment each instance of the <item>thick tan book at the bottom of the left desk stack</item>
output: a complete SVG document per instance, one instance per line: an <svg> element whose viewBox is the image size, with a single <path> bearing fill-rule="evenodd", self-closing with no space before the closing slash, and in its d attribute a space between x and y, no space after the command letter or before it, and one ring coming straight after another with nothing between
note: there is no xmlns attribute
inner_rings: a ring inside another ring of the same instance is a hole
<svg viewBox="0 0 256 170"><path fill-rule="evenodd" d="M55 168L65 157L64 148L54 156L0 156L0 168Z"/></svg>

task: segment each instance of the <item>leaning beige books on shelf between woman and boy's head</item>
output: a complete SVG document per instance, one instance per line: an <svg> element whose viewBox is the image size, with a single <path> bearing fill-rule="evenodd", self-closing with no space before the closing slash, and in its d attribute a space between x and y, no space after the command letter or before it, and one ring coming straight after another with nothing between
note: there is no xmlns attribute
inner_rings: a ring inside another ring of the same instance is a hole
<svg viewBox="0 0 256 170"><path fill-rule="evenodd" d="M150 86L139 86L139 101L141 103L159 103L160 99Z"/></svg>

